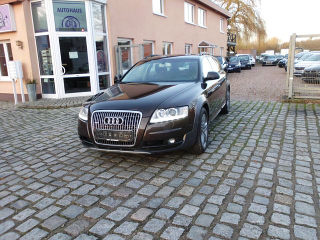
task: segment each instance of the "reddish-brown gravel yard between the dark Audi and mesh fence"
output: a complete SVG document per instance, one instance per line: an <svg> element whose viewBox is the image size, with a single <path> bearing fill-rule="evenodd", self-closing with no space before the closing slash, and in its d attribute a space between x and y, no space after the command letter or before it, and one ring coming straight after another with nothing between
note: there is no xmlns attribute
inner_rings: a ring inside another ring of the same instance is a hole
<svg viewBox="0 0 320 240"><path fill-rule="evenodd" d="M286 97L284 68L256 64L251 70L229 73L230 96L237 100L280 101Z"/></svg>

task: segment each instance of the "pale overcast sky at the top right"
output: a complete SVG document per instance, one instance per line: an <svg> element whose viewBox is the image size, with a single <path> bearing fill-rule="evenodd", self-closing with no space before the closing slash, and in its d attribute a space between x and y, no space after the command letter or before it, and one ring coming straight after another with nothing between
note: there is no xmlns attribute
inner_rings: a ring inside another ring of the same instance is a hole
<svg viewBox="0 0 320 240"><path fill-rule="evenodd" d="M320 0L261 0L261 16L265 20L268 37L283 42L290 35L320 33Z"/></svg>

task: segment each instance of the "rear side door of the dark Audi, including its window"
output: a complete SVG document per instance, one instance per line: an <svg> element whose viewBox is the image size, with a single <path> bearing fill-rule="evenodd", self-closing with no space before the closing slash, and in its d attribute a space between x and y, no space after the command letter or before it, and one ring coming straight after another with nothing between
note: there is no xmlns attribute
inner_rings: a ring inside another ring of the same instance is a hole
<svg viewBox="0 0 320 240"><path fill-rule="evenodd" d="M216 71L220 74L220 78L218 79L219 88L217 90L217 109L220 109L224 100L225 100L225 93L226 93L226 72L221 68L217 59L213 57L208 57L208 60L211 64L212 70Z"/></svg>

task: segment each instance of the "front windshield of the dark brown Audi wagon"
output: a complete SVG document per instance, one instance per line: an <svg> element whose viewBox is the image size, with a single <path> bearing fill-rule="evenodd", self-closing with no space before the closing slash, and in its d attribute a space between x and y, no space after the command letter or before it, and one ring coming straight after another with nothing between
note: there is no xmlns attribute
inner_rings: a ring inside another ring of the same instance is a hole
<svg viewBox="0 0 320 240"><path fill-rule="evenodd" d="M121 79L121 82L196 81L197 59L156 59L140 62Z"/></svg>

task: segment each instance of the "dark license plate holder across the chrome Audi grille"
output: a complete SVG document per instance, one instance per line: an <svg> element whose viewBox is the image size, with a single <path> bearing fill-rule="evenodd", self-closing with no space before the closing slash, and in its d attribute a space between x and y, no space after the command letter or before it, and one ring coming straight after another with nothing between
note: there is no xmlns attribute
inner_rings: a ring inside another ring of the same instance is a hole
<svg viewBox="0 0 320 240"><path fill-rule="evenodd" d="M96 140L107 141L133 141L133 131L95 129Z"/></svg>

